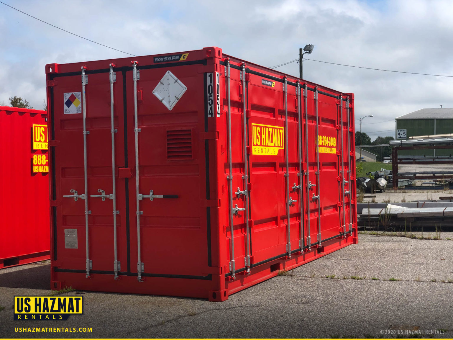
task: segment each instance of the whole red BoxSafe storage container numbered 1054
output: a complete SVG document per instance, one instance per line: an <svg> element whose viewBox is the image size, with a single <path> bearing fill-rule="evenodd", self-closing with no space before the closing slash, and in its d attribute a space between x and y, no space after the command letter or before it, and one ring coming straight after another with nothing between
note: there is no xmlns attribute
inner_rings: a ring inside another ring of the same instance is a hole
<svg viewBox="0 0 453 340"><path fill-rule="evenodd" d="M223 301L357 243L352 93L217 47L46 74L52 289Z"/></svg>

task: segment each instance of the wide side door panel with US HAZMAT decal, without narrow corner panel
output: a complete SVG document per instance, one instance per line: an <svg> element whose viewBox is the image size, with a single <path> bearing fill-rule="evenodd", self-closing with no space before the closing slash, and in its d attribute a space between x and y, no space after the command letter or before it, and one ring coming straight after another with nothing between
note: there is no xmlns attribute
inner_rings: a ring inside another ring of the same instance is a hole
<svg viewBox="0 0 453 340"><path fill-rule="evenodd" d="M285 161L285 112L283 84L251 74L248 83L250 105L249 136L251 145L250 194L251 249L253 262L269 260L286 253L286 243L291 250L299 248L300 206L298 185L298 114L294 86L288 86L288 137L289 183L291 199L290 239L287 235L286 211L286 161Z"/></svg>

